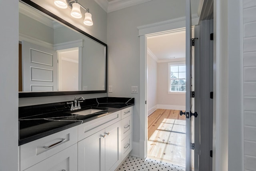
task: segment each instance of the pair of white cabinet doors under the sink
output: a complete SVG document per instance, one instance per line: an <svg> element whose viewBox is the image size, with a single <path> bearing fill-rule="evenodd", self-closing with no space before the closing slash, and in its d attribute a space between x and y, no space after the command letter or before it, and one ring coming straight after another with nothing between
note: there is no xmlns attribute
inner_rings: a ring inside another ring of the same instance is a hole
<svg viewBox="0 0 256 171"><path fill-rule="evenodd" d="M118 113L120 114L120 111L112 114ZM98 127L94 129L97 130ZM104 129L78 142L78 171L114 171L120 163L121 121L119 115L119 121L116 123L108 124Z"/></svg>

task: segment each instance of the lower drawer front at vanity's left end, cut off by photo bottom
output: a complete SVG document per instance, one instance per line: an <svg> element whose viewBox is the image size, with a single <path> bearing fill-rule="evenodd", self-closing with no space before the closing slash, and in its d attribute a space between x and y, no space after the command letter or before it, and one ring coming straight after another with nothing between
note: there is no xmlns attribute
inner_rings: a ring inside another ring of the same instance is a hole
<svg viewBox="0 0 256 171"><path fill-rule="evenodd" d="M52 155L25 171L77 171L77 144Z"/></svg>

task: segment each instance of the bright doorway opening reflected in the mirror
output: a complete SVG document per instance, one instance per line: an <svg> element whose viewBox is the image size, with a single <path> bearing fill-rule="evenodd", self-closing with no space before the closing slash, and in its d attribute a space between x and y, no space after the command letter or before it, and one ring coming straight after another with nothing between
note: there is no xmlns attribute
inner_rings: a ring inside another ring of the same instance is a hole
<svg viewBox="0 0 256 171"><path fill-rule="evenodd" d="M58 90L78 91L78 48L58 52Z"/></svg>

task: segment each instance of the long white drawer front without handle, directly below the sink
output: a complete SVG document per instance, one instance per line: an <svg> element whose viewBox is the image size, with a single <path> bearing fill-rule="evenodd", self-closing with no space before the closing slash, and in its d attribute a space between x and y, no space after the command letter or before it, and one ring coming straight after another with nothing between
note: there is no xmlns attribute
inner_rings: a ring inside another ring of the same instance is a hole
<svg viewBox="0 0 256 171"><path fill-rule="evenodd" d="M90 135L120 120L121 111L116 111L114 113L110 113L109 115L78 125L78 141L81 141L82 139L89 137Z"/></svg>

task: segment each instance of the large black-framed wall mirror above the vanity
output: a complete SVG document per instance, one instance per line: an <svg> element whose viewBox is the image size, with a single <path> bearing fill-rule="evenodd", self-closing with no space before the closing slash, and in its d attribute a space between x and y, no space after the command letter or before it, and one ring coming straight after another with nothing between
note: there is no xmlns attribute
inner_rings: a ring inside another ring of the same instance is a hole
<svg viewBox="0 0 256 171"><path fill-rule="evenodd" d="M107 45L19 1L19 97L106 93Z"/></svg>

